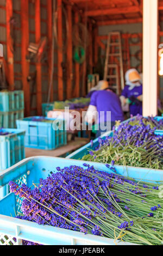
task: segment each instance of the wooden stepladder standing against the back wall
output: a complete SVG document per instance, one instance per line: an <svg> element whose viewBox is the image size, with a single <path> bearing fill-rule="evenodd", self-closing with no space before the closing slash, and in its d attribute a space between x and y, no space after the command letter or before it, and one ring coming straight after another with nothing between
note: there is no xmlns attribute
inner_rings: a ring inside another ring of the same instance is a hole
<svg viewBox="0 0 163 256"><path fill-rule="evenodd" d="M116 52L115 52L116 49ZM117 65L117 66L115 66ZM117 72L117 67L120 70L120 79ZM110 75L111 71L111 75ZM113 77L114 76L114 77ZM121 86L115 84L114 88L120 94L124 88L123 60L122 60L122 42L120 32L110 32L106 47L106 58L104 66L104 80L116 79L121 81Z"/></svg>

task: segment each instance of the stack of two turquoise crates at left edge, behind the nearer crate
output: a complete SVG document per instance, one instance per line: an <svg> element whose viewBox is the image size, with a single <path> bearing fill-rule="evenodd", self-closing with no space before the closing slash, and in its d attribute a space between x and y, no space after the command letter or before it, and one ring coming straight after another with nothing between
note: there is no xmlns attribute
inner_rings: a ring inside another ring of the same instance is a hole
<svg viewBox="0 0 163 256"><path fill-rule="evenodd" d="M0 127L16 128L16 120L23 117L23 91L0 92Z"/></svg>

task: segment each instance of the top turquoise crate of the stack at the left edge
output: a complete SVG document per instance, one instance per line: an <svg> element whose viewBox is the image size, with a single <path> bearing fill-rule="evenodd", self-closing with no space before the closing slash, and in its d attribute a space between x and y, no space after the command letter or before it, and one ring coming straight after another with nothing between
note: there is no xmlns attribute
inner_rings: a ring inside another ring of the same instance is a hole
<svg viewBox="0 0 163 256"><path fill-rule="evenodd" d="M0 92L0 111L11 112L24 109L24 93L22 90Z"/></svg>

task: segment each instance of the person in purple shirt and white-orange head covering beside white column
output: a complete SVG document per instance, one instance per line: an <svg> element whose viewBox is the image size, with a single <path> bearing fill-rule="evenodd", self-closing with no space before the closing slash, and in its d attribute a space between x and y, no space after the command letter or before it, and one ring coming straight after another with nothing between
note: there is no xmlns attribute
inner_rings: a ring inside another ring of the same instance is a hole
<svg viewBox="0 0 163 256"><path fill-rule="evenodd" d="M125 75L126 87L124 87L121 102L123 110L129 106L130 115L142 115L142 82L136 69L129 69Z"/></svg>

